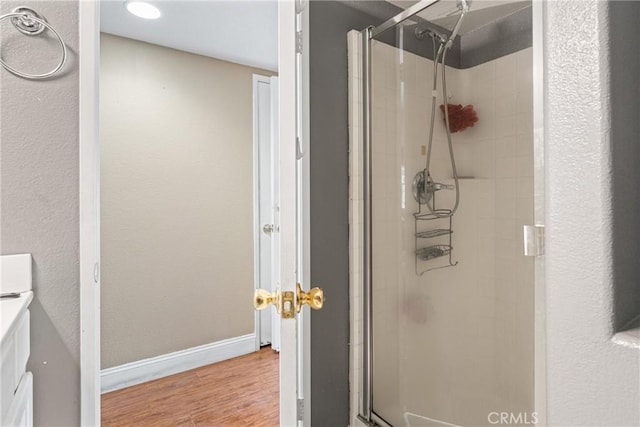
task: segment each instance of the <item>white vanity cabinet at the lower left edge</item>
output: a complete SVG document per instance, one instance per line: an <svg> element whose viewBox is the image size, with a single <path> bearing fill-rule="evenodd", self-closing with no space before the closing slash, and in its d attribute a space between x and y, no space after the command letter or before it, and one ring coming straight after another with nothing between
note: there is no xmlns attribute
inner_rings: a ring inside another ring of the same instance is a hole
<svg viewBox="0 0 640 427"><path fill-rule="evenodd" d="M19 262L16 263L15 257L22 259L18 259ZM7 262L6 258L12 259ZM16 266L20 268L11 271ZM2 256L0 270L0 293L16 294L0 298L0 426L31 426L33 375L27 372L27 361L31 351L31 319L28 307L33 300L31 256Z"/></svg>

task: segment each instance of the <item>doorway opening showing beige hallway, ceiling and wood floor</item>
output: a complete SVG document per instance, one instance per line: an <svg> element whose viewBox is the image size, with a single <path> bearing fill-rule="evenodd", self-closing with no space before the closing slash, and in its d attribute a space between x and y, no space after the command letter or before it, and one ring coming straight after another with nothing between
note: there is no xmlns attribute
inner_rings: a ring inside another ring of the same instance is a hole
<svg viewBox="0 0 640 427"><path fill-rule="evenodd" d="M159 6L147 22L101 3L102 422L246 424L269 407L277 423L279 325L251 306L279 262L277 5L252 11L262 28L273 18L258 37L271 39L266 59L233 34L212 47L212 34L184 31L187 18L206 28L194 16L246 19L245 5ZM247 377L267 368L273 381ZM228 410L197 397L224 402L234 388L245 392Z"/></svg>

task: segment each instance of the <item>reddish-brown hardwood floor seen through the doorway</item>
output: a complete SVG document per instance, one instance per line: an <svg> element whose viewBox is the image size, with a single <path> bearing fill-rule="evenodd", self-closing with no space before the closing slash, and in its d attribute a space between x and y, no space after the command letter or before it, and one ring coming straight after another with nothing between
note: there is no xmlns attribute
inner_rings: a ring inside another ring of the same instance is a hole
<svg viewBox="0 0 640 427"><path fill-rule="evenodd" d="M260 351L102 395L102 425L279 424L278 354Z"/></svg>

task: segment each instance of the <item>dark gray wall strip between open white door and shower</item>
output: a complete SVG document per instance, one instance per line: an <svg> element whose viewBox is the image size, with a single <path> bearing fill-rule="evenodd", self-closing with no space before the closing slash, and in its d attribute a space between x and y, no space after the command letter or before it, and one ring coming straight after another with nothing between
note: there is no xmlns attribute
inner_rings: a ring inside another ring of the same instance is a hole
<svg viewBox="0 0 640 427"><path fill-rule="evenodd" d="M311 313L311 420L337 427L349 424L347 32L382 20L339 2L310 7L311 283L327 295Z"/></svg>

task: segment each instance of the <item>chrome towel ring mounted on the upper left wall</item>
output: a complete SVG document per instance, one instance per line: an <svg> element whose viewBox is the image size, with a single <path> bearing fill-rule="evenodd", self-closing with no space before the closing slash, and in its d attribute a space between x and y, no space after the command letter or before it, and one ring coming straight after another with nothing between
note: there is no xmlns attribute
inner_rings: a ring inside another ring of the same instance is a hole
<svg viewBox="0 0 640 427"><path fill-rule="evenodd" d="M57 38L60 43L60 48L62 49L62 58L60 59L60 63L51 71L42 73L42 74L29 74L23 73L22 71L18 71L9 64L7 64L2 57L0 57L0 64L12 74L15 74L18 77L22 77L30 80L43 80L47 79L56 73L58 73L65 62L67 61L67 46L64 44L64 40L60 34L47 22L47 20L37 13L35 10L30 7L18 7L15 8L11 13L7 13L6 15L0 16L0 22L5 19L11 19L11 23L18 31L27 36L36 36L41 34L44 30L51 31Z"/></svg>

